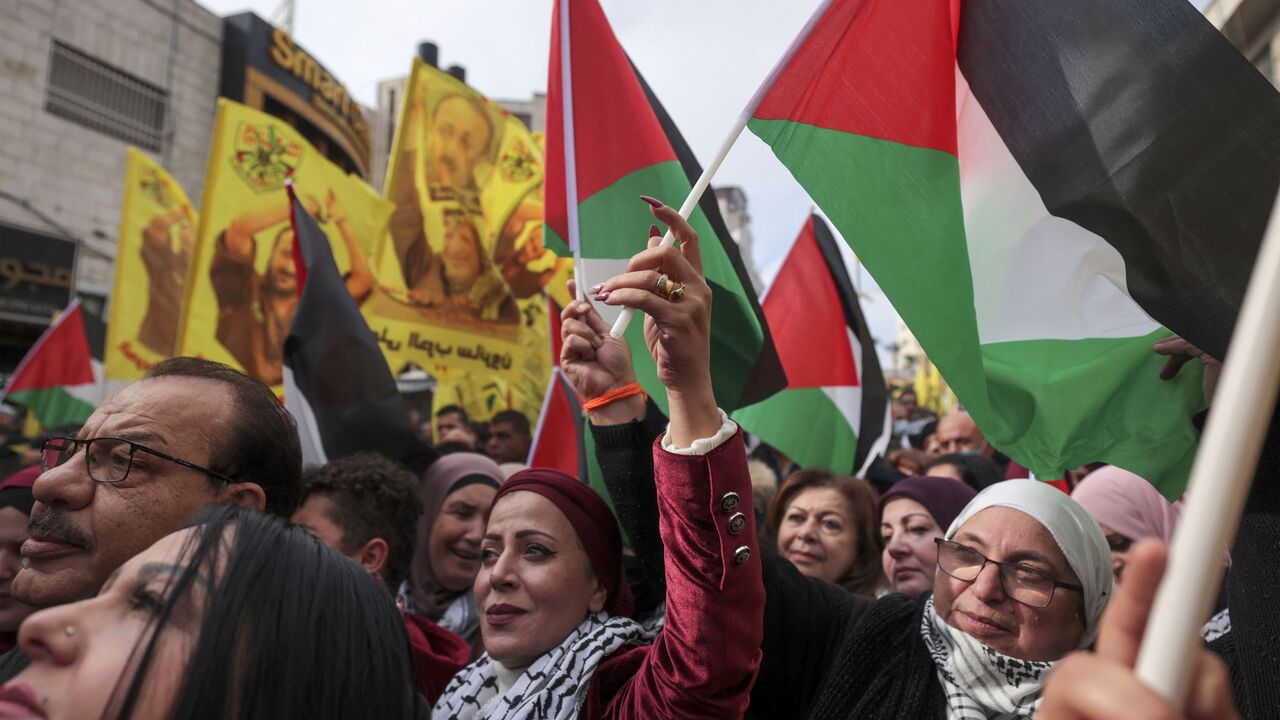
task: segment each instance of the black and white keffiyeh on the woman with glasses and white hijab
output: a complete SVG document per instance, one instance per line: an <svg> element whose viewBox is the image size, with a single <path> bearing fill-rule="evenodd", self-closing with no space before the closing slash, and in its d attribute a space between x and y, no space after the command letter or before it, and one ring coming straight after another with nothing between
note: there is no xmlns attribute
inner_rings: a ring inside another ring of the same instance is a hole
<svg viewBox="0 0 1280 720"><path fill-rule="evenodd" d="M947 720L1009 720L1036 715L1052 662L1001 655L947 625L925 601L920 634L947 696Z"/></svg>

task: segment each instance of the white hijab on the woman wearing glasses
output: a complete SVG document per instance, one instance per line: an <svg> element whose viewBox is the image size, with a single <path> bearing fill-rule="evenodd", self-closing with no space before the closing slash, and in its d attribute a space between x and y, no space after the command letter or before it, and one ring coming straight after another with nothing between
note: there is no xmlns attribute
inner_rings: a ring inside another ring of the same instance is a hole
<svg viewBox="0 0 1280 720"><path fill-rule="evenodd" d="M1080 638L1079 647L1092 644L1115 584L1111 575L1111 548L1097 520L1079 502L1052 486L1038 480L1005 480L969 501L947 528L946 538L954 538L960 532L960 525L988 507L1025 512L1053 536L1066 564L1080 578L1084 588L1084 637Z"/></svg>

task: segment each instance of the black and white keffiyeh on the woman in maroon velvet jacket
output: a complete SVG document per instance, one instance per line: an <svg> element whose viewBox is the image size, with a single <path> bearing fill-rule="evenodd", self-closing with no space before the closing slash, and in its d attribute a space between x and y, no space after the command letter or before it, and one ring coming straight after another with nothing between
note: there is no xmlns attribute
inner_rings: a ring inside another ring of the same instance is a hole
<svg viewBox="0 0 1280 720"><path fill-rule="evenodd" d="M577 717L600 662L627 644L652 642L654 632L630 618L596 612L564 642L529 666L499 694L498 662L483 655L449 680L433 720L571 720Z"/></svg>

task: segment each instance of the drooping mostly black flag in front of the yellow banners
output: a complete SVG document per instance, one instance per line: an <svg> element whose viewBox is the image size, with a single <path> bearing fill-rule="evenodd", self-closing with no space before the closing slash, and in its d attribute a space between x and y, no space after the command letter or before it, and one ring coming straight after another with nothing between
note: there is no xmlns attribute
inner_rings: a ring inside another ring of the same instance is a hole
<svg viewBox="0 0 1280 720"><path fill-rule="evenodd" d="M284 405L298 425L302 461L362 451L401 460L413 441L396 379L338 274L329 238L288 190L301 290L284 340Z"/></svg>

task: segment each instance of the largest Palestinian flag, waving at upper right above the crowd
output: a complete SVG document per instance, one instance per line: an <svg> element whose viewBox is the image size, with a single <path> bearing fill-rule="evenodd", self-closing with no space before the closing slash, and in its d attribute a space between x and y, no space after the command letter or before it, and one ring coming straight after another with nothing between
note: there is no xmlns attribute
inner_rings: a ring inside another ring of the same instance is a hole
<svg viewBox="0 0 1280 720"><path fill-rule="evenodd" d="M1199 378L1151 345L1225 351L1280 182L1266 79L1187 0L835 0L772 79L749 127L988 439L1178 496Z"/></svg>

